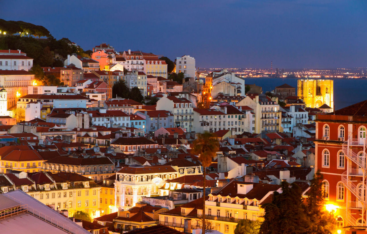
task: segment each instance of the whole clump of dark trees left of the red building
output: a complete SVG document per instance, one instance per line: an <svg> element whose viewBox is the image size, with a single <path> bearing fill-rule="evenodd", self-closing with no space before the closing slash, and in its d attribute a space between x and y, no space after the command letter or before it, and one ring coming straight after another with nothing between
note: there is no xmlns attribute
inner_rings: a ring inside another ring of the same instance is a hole
<svg viewBox="0 0 367 234"><path fill-rule="evenodd" d="M274 192L271 204L265 205L264 222L260 234L331 234L335 217L324 208L322 177L319 172L312 180L307 202L297 184L282 182L282 193Z"/></svg>

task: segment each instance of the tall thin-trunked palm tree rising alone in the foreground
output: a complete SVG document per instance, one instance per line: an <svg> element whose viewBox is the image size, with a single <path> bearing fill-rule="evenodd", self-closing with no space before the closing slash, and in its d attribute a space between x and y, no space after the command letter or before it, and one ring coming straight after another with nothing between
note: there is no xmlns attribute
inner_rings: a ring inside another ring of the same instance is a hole
<svg viewBox="0 0 367 234"><path fill-rule="evenodd" d="M210 166L216 152L219 150L219 142L217 137L212 134L205 132L199 135L194 141L193 153L199 154L199 160L203 166L203 223L205 223L205 177L206 168ZM202 226L202 234L205 234L205 225Z"/></svg>

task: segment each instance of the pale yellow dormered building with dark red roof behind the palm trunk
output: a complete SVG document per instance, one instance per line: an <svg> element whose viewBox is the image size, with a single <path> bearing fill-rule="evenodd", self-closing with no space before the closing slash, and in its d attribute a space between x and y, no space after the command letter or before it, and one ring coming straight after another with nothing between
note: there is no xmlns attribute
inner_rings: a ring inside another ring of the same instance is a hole
<svg viewBox="0 0 367 234"><path fill-rule="evenodd" d="M225 183L225 182L224 182ZM234 233L241 219L261 220L265 209L262 205L271 202L271 194L280 191L280 186L230 181L219 181L205 201L205 216L213 229L221 233ZM159 215L159 223L182 231L185 219L190 219L192 228L200 228L203 206L199 199Z"/></svg>

